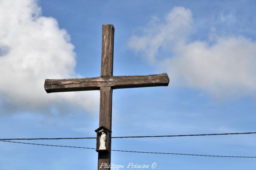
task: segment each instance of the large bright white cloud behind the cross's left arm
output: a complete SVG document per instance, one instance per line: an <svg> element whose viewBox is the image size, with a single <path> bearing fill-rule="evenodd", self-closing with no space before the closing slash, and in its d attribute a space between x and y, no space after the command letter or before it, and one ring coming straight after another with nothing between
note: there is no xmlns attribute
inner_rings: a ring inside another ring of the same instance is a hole
<svg viewBox="0 0 256 170"><path fill-rule="evenodd" d="M4 112L52 110L52 106L98 107L98 92L46 94L44 79L74 78L74 46L36 0L0 1L0 103Z"/></svg>

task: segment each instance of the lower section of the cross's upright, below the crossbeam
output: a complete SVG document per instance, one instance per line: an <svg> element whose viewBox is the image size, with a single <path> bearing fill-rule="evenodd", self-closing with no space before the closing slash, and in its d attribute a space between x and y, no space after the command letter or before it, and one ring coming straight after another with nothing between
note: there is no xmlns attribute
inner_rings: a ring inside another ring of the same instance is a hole
<svg viewBox="0 0 256 170"><path fill-rule="evenodd" d="M99 127L104 126L111 131L112 128L112 89L111 87L100 87L100 121ZM109 152L98 153L98 170L103 163L110 165L111 162L111 132L109 138ZM110 168L104 168L110 170Z"/></svg>

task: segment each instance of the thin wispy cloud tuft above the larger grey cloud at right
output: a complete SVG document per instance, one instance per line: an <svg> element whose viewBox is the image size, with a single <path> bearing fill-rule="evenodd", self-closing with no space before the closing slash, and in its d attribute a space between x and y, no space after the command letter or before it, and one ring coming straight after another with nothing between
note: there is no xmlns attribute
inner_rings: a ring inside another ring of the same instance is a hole
<svg viewBox="0 0 256 170"><path fill-rule="evenodd" d="M163 23L153 17L143 29L143 36L133 35L128 47L136 52L143 52L149 62L155 63L159 49L175 49L183 45L188 35L193 31L191 11L183 7L174 7L165 16Z"/></svg>

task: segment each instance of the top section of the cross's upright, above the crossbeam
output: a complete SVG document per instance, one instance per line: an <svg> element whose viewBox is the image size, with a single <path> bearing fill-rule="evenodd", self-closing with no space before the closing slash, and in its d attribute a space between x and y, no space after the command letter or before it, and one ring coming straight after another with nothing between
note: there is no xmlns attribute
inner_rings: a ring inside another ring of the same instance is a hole
<svg viewBox="0 0 256 170"><path fill-rule="evenodd" d="M114 32L112 24L102 25L102 49L100 76L113 75Z"/></svg>

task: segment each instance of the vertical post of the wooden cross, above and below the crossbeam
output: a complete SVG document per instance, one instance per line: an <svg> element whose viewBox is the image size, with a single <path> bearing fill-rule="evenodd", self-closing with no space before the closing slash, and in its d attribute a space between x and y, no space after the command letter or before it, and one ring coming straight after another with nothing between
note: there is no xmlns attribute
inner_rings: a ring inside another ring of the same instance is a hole
<svg viewBox="0 0 256 170"><path fill-rule="evenodd" d="M113 75L114 30L113 25L102 25L101 77ZM110 86L100 87L100 126L110 131L112 129L112 88ZM110 165L111 132L109 140L109 152L98 153L98 170L103 169L101 167L103 163ZM110 168L104 168L104 170L110 170Z"/></svg>

